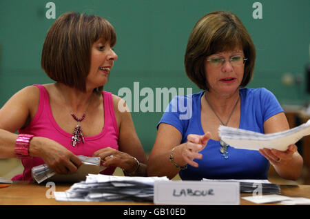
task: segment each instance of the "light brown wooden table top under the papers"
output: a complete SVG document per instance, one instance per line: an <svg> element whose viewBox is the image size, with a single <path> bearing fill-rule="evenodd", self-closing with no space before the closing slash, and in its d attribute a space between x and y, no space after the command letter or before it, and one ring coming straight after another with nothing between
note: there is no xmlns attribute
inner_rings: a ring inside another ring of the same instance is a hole
<svg viewBox="0 0 310 219"><path fill-rule="evenodd" d="M56 191L66 191L72 184L56 184ZM281 195L310 198L310 185L281 185ZM50 187L31 181L14 181L8 187L0 188L0 205L154 205L153 202L58 202L47 198ZM242 193L241 197L252 196ZM240 198L240 205L254 205ZM274 203L273 203L274 204Z"/></svg>

